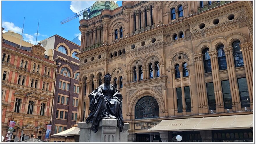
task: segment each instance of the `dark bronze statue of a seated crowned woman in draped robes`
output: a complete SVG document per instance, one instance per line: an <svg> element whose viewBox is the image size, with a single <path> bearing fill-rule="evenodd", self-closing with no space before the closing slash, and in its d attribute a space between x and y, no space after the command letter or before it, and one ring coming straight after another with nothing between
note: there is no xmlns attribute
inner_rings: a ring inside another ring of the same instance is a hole
<svg viewBox="0 0 256 144"><path fill-rule="evenodd" d="M103 118L115 118L117 119L117 126L122 132L124 125L124 119L122 114L121 100L118 97L122 97L118 89L110 84L111 76L106 74L104 77L105 82L90 93L90 107L91 111L86 123L91 123L91 130L95 133L98 131L99 122Z"/></svg>

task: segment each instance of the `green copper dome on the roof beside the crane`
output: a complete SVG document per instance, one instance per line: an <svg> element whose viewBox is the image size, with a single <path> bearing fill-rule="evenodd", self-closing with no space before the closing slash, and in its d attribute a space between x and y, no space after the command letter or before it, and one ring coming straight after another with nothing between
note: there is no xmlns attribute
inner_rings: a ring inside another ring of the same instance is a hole
<svg viewBox="0 0 256 144"><path fill-rule="evenodd" d="M89 19L94 16L100 15L101 11L105 9L105 2L106 1L96 1L93 4L89 13ZM113 10L115 8L118 8L118 4L114 1L110 1L110 9Z"/></svg>

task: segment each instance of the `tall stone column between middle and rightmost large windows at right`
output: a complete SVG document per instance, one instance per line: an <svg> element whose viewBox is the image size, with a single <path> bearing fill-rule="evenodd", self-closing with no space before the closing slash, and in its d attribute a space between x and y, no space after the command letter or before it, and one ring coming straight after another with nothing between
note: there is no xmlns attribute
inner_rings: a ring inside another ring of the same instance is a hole
<svg viewBox="0 0 256 144"><path fill-rule="evenodd" d="M227 72L228 72L230 92L232 97L232 110L241 111L237 76L236 76L235 65L234 65L233 47L232 46L224 47L223 50L225 52L226 60L227 60Z"/></svg>

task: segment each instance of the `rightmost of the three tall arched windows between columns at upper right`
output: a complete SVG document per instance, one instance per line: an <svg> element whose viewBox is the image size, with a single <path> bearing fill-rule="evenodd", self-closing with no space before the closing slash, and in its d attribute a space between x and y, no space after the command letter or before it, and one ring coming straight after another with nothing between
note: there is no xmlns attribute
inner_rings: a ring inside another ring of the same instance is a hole
<svg viewBox="0 0 256 144"><path fill-rule="evenodd" d="M243 66L243 55L242 55L242 50L239 44L240 44L239 41L235 41L232 44L233 53L234 53L234 62L236 67Z"/></svg>

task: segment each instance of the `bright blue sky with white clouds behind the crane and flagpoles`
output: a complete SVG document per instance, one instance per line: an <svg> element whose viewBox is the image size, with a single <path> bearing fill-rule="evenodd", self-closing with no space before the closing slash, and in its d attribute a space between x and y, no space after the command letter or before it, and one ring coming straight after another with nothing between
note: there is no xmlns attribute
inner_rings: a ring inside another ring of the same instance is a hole
<svg viewBox="0 0 256 144"><path fill-rule="evenodd" d="M12 30L22 33L25 17L23 38L35 44L39 21L37 42L55 34L72 40L81 35L78 17L65 24L63 19L93 5L95 1L1 1L1 26L3 32ZM122 6L122 1L116 1Z"/></svg>

